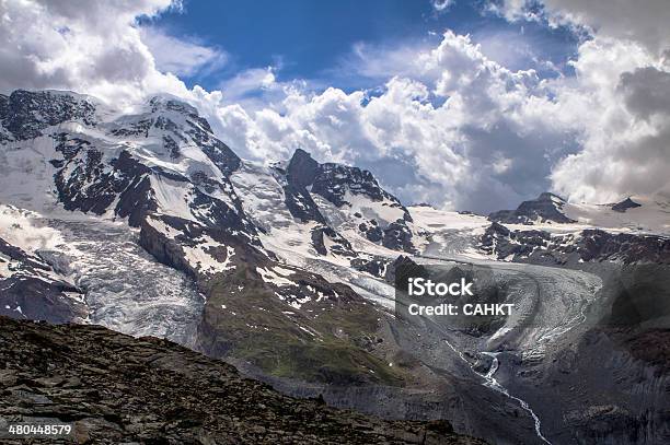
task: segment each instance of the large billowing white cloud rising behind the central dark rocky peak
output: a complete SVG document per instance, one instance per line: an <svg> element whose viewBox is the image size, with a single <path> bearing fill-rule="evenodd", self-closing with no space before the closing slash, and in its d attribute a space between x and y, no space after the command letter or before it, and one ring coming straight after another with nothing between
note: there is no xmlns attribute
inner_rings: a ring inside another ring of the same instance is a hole
<svg viewBox="0 0 670 445"><path fill-rule="evenodd" d="M575 148L561 119L543 119L554 105L534 71L507 70L467 36L447 32L393 66L402 75L374 94L291 89L261 110L223 107L221 132L258 159L300 147L370 168L405 201L477 211L539 194Z"/></svg>

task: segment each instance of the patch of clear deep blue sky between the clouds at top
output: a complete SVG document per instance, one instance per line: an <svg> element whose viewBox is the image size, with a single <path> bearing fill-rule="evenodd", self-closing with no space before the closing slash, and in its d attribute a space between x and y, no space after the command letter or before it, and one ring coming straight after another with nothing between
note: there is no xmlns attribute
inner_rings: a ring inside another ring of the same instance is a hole
<svg viewBox="0 0 670 445"><path fill-rule="evenodd" d="M579 43L566 28L510 23L485 12L480 1L454 2L438 11L428 0L186 0L181 10L141 23L226 52L226 62L216 69L181 75L187 85L207 90L244 70L265 67L274 67L277 81L309 80L316 90L372 89L378 80L351 72L347 63L357 45L434 47L446 30L470 34L487 57L507 68L534 68L542 77L555 77L556 70L570 75L566 62Z"/></svg>

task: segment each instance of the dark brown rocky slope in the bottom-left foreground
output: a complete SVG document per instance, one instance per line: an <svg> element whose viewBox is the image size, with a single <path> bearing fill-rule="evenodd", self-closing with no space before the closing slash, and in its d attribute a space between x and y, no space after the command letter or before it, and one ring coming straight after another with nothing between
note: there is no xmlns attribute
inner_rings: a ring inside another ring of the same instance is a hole
<svg viewBox="0 0 670 445"><path fill-rule="evenodd" d="M74 422L79 443L483 444L444 421L382 421L282 396L173 342L97 326L0 317L0 424Z"/></svg>

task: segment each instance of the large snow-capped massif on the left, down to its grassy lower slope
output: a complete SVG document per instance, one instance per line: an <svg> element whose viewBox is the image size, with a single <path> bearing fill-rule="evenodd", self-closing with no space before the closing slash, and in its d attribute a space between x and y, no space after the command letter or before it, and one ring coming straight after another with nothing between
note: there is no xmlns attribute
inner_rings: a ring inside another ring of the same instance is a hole
<svg viewBox="0 0 670 445"><path fill-rule="evenodd" d="M74 93L16 91L0 96L0 199L53 232L55 242L30 244L25 255L68 283L71 301L85 295L77 319L216 356L243 350L255 364L265 360L264 336L293 350L308 340L332 361L357 356L349 376L400 378L358 346L380 308L342 284L370 285L353 260L391 262L416 250L407 209L369 172L301 150L268 166L241 161L170 96L128 114ZM10 296L0 298L14 311ZM31 295L45 307L49 297ZM244 318L231 323L236 314ZM258 332L255 344L241 332ZM327 339L340 348L319 346Z"/></svg>

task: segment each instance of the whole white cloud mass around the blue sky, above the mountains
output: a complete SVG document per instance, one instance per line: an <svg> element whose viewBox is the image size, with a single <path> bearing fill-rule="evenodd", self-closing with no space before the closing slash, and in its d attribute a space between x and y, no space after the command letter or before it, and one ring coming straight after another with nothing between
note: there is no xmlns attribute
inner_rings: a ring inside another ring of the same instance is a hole
<svg viewBox="0 0 670 445"><path fill-rule="evenodd" d="M668 189L665 31L638 30L645 14L637 14L623 35L608 15L589 15L596 7L558 5L569 4L547 0L546 10L529 12L525 1L508 1L498 12L589 26L569 61L574 77L510 69L448 31L436 42L354 48L346 63L379 82L371 91L280 81L277 67L247 69L206 91L177 75L223 62L222 50L137 24L174 8L168 0L5 0L0 90L67 89L122 105L171 93L196 105L243 157L286 159L302 148L371 169L406 202L485 212L547 188L600 202Z"/></svg>

